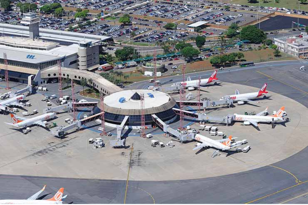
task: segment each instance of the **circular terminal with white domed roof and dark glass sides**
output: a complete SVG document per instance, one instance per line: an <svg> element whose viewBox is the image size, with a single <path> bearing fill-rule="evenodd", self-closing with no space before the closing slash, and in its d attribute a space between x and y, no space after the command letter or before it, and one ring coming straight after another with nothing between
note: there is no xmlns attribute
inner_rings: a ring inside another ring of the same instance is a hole
<svg viewBox="0 0 308 205"><path fill-rule="evenodd" d="M166 124L176 120L172 108L178 108L176 101L170 95L153 90L124 90L104 97L105 122L119 125L125 116L129 116L126 125L141 125L141 100L144 94L145 124L154 125L152 114L155 114ZM101 104L93 108L93 113L101 112Z"/></svg>

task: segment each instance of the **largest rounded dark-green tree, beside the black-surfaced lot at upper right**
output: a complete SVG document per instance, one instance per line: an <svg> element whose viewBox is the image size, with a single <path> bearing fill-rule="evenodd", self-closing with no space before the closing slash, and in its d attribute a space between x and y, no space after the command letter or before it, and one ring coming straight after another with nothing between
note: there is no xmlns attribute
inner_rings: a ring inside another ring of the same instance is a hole
<svg viewBox="0 0 308 205"><path fill-rule="evenodd" d="M241 35L240 35L241 40L248 40L251 43L261 43L266 39L266 35L264 32L260 29L258 29L255 26L245 26L241 30Z"/></svg>

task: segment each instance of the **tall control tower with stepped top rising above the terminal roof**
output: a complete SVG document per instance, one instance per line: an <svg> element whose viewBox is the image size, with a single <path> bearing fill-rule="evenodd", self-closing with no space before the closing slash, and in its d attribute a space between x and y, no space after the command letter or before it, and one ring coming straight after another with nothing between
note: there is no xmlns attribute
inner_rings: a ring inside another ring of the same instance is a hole
<svg viewBox="0 0 308 205"><path fill-rule="evenodd" d="M21 24L29 25L29 37L34 39L39 37L39 17L35 13L29 12L23 14Z"/></svg>

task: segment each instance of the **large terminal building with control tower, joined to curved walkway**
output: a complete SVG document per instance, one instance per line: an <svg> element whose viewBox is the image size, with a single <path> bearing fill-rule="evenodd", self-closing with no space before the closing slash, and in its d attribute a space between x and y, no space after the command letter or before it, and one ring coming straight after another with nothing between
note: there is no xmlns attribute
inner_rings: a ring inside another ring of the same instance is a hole
<svg viewBox="0 0 308 205"><path fill-rule="evenodd" d="M4 76L4 53L7 56L9 79L28 83L44 84L41 71L57 66L76 71L91 71L99 67L99 48L111 37L74 33L39 28L39 17L35 13L24 14L17 26L0 24L0 77Z"/></svg>

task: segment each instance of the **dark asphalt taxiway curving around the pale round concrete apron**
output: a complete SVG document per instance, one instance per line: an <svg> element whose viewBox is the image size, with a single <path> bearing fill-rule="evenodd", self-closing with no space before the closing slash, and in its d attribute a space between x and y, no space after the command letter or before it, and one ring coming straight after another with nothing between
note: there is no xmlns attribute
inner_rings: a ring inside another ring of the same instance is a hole
<svg viewBox="0 0 308 205"><path fill-rule="evenodd" d="M307 107L308 71L299 70L301 65L307 64L307 61L264 63L220 71L217 77L223 82L257 88L268 82L268 90L290 97ZM197 79L199 76L209 77L211 73L187 76ZM160 79L162 83L180 80L181 76ZM144 81L128 86L127 89L147 86L148 82ZM116 181L0 175L0 199L26 199L47 184L44 193L51 194L45 199L55 194L59 187L65 187L67 203L307 203L307 155L306 147L270 166L220 177L179 181L129 181L129 177L128 181Z"/></svg>

